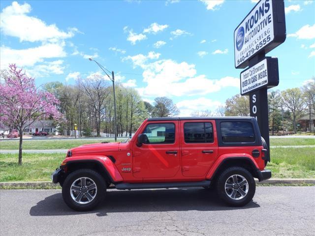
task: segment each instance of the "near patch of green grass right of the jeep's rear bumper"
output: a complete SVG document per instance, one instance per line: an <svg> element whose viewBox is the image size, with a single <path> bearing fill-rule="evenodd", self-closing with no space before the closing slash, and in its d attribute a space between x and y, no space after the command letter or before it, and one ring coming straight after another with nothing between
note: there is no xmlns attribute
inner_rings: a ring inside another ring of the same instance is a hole
<svg viewBox="0 0 315 236"><path fill-rule="evenodd" d="M273 178L315 178L315 148L271 148Z"/></svg>

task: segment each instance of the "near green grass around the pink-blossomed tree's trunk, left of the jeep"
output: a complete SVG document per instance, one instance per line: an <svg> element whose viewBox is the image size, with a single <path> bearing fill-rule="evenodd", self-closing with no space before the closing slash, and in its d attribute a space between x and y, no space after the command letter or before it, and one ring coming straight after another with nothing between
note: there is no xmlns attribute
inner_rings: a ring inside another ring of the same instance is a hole
<svg viewBox="0 0 315 236"><path fill-rule="evenodd" d="M19 166L18 154L0 154L0 182L50 181L64 157L63 153L23 153Z"/></svg>

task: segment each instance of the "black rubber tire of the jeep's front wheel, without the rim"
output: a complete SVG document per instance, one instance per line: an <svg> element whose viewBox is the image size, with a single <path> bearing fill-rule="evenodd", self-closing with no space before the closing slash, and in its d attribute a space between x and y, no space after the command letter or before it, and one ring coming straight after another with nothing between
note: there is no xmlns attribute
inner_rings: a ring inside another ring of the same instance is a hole
<svg viewBox="0 0 315 236"><path fill-rule="evenodd" d="M80 178L80 177L88 177L95 182L96 185L96 193L94 199L86 204L80 204L75 202L70 194L70 188L72 183ZM104 178L98 174L97 172L91 169L80 169L69 174L63 181L63 201L65 204L77 211L88 211L94 209L99 203L103 202L106 194L106 182Z"/></svg>

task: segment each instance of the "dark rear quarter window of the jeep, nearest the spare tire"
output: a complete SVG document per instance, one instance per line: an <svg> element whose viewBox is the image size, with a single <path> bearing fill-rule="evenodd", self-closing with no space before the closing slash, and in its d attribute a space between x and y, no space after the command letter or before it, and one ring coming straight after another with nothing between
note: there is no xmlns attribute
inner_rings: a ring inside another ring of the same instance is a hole
<svg viewBox="0 0 315 236"><path fill-rule="evenodd" d="M221 135L223 143L252 143L255 141L251 122L221 122Z"/></svg>

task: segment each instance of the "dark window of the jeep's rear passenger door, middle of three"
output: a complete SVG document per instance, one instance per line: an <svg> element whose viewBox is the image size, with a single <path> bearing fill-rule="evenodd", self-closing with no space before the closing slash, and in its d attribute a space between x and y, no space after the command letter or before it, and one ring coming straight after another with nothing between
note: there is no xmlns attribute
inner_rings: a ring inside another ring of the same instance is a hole
<svg viewBox="0 0 315 236"><path fill-rule="evenodd" d="M212 143L213 128L210 122L184 124L185 143Z"/></svg>

